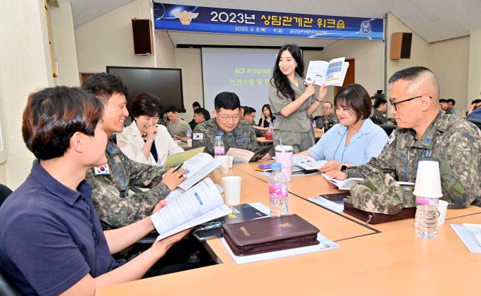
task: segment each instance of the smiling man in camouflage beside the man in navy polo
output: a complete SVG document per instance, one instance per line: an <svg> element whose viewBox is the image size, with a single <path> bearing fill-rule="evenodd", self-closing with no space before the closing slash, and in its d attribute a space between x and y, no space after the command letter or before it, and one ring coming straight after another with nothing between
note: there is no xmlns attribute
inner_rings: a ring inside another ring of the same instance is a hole
<svg viewBox="0 0 481 296"><path fill-rule="evenodd" d="M82 87L104 103L103 121L107 136L121 132L129 112L125 100L127 88L120 78L100 73L87 79ZM92 185L98 216L109 227L122 227L149 216L153 207L183 181L180 172L184 170L167 172L162 167L132 161L111 139L107 142L105 156L107 163L87 171L85 179ZM130 186L151 190L129 195Z"/></svg>

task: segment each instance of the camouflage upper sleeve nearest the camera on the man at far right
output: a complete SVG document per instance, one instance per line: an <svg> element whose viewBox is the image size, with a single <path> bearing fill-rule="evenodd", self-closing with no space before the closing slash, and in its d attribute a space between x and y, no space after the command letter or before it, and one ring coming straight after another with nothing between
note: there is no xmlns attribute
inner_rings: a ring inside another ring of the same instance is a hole
<svg viewBox="0 0 481 296"><path fill-rule="evenodd" d="M476 135L478 133L478 135ZM481 132L453 133L440 156L441 185L450 208L469 207L481 196Z"/></svg>

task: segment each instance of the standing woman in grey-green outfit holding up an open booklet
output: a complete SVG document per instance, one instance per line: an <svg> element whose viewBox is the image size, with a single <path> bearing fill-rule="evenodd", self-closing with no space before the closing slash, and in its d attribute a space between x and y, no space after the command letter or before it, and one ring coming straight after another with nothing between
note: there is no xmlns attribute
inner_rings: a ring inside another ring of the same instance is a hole
<svg viewBox="0 0 481 296"><path fill-rule="evenodd" d="M314 145L314 130L310 115L319 108L326 87L319 91L314 83L305 84L302 75L304 62L297 45L284 45L277 54L274 73L268 86L270 109L275 115L274 146L292 146L299 153ZM314 93L318 93L314 95Z"/></svg>

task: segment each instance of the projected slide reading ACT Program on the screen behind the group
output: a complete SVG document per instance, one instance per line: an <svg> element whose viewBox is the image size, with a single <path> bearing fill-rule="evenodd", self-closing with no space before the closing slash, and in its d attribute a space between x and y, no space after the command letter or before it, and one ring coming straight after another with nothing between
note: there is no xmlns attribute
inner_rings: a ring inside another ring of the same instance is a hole
<svg viewBox="0 0 481 296"><path fill-rule="evenodd" d="M217 93L237 93L242 106L257 111L257 123L262 105L269 103L267 87L277 52L278 49L202 48L205 108L212 112Z"/></svg>

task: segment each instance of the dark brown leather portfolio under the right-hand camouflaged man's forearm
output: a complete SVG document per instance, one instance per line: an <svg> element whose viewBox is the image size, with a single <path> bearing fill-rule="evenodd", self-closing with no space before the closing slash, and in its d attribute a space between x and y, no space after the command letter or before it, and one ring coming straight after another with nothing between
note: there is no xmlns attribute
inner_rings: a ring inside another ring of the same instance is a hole
<svg viewBox="0 0 481 296"><path fill-rule="evenodd" d="M406 207L398 214L394 215L387 215L387 214L379 214L374 212L365 212L362 209L356 209L352 205L352 200L348 200L344 202L344 211L346 214L350 214L358 218L359 220L363 220L369 224L378 224L378 223L385 223L391 222L396 220L403 220L414 218L416 215L416 207Z"/></svg>

